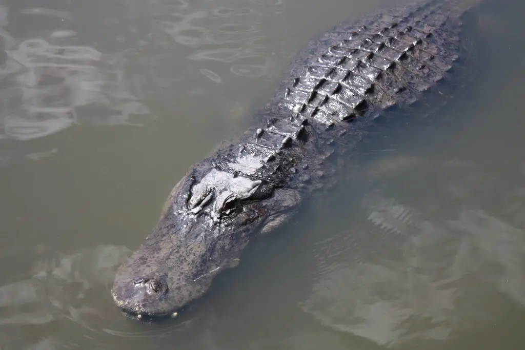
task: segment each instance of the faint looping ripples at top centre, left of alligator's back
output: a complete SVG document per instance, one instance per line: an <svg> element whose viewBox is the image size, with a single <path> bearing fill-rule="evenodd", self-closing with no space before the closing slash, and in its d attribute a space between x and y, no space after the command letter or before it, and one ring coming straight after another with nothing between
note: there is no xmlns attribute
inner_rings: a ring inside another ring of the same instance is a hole
<svg viewBox="0 0 525 350"><path fill-rule="evenodd" d="M163 13L157 16L157 25L176 43L194 50L187 56L192 61L218 61L236 63L230 70L239 75L246 60L254 65L246 67L264 67L268 59L262 40L261 18L269 10L266 4L238 3L225 6L192 4L182 6L163 6ZM280 4L271 4L280 5ZM198 7L195 9L193 7ZM206 8L207 7L207 8ZM276 13L277 9L271 9ZM240 75L243 75L242 73ZM246 77L258 77L260 73L245 74Z"/></svg>

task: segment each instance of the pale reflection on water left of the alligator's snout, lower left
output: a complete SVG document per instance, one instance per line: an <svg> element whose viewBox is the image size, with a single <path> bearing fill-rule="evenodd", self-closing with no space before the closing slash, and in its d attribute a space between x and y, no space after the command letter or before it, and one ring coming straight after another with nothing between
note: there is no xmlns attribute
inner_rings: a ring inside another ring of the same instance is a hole
<svg viewBox="0 0 525 350"><path fill-rule="evenodd" d="M30 343L33 336L23 336L20 326L47 328L47 325L57 322L73 322L100 332L91 328L96 320L104 317L101 310L91 306L92 300L100 298L100 293L111 285L114 271L129 255L127 248L99 246L49 256L48 249L39 246L36 250L26 249L18 253L32 257L34 263L22 279L0 285L0 326L5 332L4 341L12 339L10 335L19 334L19 343L12 347L31 348L27 342ZM6 254L2 257L7 258ZM6 263L7 259L3 262ZM33 346L54 348L51 346L55 343L53 338L64 343L59 337L67 338L67 335L46 336ZM2 345L10 344L5 342Z"/></svg>

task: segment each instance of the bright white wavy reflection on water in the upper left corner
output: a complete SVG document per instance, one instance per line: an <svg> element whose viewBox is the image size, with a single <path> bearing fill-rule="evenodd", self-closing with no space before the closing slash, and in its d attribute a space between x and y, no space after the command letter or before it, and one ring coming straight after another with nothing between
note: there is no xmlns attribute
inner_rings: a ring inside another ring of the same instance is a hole
<svg viewBox="0 0 525 350"><path fill-rule="evenodd" d="M76 45L72 30L14 38L6 31L8 8L2 6L0 12L6 55L1 71L0 137L31 140L73 124L133 125L134 115L149 113L125 86L125 62L118 55ZM24 8L20 13L72 20L67 12L43 8Z"/></svg>

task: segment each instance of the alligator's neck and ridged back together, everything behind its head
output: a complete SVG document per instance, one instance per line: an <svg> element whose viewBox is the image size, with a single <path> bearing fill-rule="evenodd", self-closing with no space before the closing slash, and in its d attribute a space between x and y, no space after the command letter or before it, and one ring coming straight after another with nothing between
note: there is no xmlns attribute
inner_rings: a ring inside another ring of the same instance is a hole
<svg viewBox="0 0 525 350"><path fill-rule="evenodd" d="M291 77L260 111L266 125L209 162L276 186L327 185L316 175L335 171L325 158L352 149L376 116L422 101L448 75L455 78L451 68L467 54L461 15L477 1L420 1L334 27L295 60ZM333 147L334 140L342 144Z"/></svg>

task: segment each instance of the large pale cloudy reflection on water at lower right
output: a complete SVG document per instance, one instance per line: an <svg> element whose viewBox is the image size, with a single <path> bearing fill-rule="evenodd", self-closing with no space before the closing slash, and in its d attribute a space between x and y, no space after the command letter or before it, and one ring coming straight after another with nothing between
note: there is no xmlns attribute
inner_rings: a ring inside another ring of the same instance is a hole
<svg viewBox="0 0 525 350"><path fill-rule="evenodd" d="M374 242L373 259L344 264L340 255L320 257L320 277L301 307L322 324L398 345L446 340L451 332L493 322L506 310L498 299L487 304L493 293L525 305L522 228L482 210L463 210L437 225L391 198L367 202L384 251Z"/></svg>

